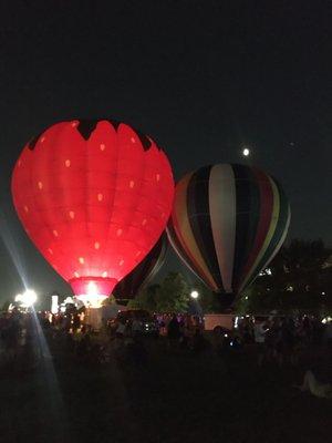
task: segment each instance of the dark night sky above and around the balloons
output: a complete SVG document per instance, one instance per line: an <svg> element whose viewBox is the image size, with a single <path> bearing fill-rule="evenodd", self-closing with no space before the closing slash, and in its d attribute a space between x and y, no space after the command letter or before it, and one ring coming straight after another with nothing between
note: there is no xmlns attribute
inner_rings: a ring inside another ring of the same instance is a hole
<svg viewBox="0 0 332 443"><path fill-rule="evenodd" d="M41 292L66 289L15 218L10 175L31 136L77 116L147 132L176 178L260 166L289 196L289 238L331 245L331 23L330 1L1 0L0 301L17 269Z"/></svg>

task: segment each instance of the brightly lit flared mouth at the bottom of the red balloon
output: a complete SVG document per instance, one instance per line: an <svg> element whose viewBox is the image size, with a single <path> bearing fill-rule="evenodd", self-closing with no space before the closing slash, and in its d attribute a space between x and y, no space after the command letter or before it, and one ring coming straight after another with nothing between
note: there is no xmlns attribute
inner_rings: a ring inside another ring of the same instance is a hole
<svg viewBox="0 0 332 443"><path fill-rule="evenodd" d="M69 282L77 299L86 307L100 308L117 280L115 278L80 277L73 278Z"/></svg>

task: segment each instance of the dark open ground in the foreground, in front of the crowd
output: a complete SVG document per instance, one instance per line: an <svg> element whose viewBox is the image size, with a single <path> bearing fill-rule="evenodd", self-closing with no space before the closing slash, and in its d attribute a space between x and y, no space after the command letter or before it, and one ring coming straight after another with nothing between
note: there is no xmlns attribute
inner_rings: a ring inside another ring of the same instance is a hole
<svg viewBox="0 0 332 443"><path fill-rule="evenodd" d="M2 371L1 443L328 443L332 400L293 388L308 367L332 381L320 349L295 368L259 368L252 350L200 356L147 343L147 361L79 363L50 343L33 369Z"/></svg>

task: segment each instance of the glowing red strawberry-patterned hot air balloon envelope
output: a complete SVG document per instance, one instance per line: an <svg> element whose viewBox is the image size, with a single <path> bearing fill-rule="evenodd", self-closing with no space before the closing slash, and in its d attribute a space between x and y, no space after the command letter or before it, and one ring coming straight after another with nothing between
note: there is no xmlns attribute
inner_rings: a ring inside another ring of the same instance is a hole
<svg viewBox="0 0 332 443"><path fill-rule="evenodd" d="M110 295L148 254L172 210L174 181L149 137L112 121L49 127L22 151L13 203L53 268L84 295Z"/></svg>

